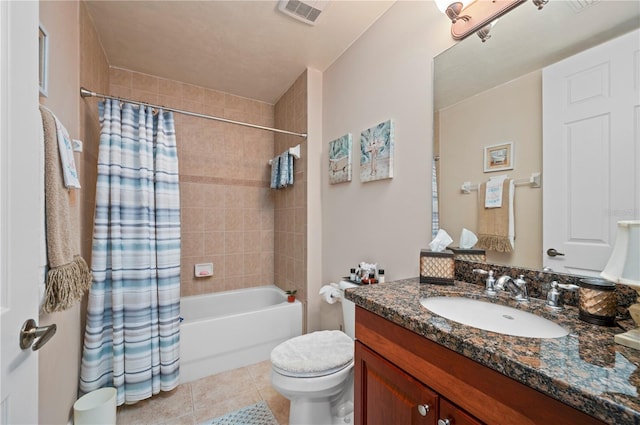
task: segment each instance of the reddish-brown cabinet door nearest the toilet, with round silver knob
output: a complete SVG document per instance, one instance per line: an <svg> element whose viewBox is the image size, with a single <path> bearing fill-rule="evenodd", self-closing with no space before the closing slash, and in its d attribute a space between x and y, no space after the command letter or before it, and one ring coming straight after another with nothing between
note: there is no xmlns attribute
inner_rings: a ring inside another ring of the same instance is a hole
<svg viewBox="0 0 640 425"><path fill-rule="evenodd" d="M435 424L438 396L356 341L355 422Z"/></svg>

